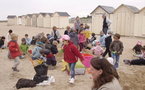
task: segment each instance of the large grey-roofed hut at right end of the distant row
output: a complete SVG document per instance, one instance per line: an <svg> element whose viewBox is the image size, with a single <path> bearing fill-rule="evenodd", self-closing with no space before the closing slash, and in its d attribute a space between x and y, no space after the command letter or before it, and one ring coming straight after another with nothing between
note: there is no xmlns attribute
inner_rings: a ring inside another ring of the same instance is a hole
<svg viewBox="0 0 145 90"><path fill-rule="evenodd" d="M69 14L67 12L55 12L51 18L51 27L66 28L69 25Z"/></svg>

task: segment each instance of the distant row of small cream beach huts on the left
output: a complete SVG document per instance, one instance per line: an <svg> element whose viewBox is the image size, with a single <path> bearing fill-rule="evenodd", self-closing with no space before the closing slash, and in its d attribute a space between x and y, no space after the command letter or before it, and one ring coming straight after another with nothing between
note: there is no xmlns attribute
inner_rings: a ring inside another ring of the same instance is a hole
<svg viewBox="0 0 145 90"><path fill-rule="evenodd" d="M23 25L45 28L57 26L59 28L65 28L69 25L69 16L70 15L67 12L36 13L22 15L18 17L15 15L9 15L7 17L7 25Z"/></svg>

